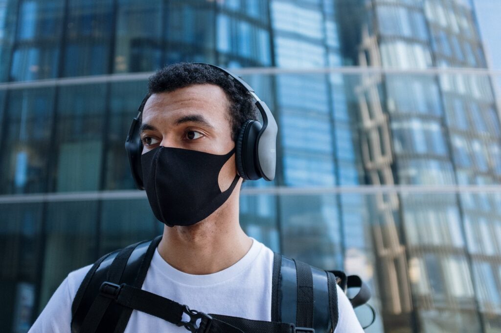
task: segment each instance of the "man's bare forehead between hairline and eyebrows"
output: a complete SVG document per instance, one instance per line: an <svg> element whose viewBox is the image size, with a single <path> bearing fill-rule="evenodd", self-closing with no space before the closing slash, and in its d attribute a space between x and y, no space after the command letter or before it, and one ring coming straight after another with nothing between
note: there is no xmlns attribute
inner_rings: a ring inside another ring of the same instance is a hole
<svg viewBox="0 0 501 333"><path fill-rule="evenodd" d="M143 121L194 113L222 120L227 118L228 104L226 94L218 85L195 84L152 94L144 105Z"/></svg>

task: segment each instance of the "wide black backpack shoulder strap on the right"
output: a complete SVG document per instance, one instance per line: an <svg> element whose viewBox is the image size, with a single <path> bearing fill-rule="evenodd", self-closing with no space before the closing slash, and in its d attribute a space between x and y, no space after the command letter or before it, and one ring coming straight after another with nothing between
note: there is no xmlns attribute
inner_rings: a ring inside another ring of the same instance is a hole
<svg viewBox="0 0 501 333"><path fill-rule="evenodd" d="M335 283L335 277L332 277ZM274 254L272 321L328 332L337 324L337 290L325 270Z"/></svg>

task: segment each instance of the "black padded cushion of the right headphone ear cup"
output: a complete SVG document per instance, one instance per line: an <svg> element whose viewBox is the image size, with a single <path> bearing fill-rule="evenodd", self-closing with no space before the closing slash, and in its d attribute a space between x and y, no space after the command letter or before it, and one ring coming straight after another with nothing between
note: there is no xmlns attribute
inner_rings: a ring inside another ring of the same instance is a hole
<svg viewBox="0 0 501 333"><path fill-rule="evenodd" d="M248 119L240 128L235 143L236 170L243 179L257 180L262 177L258 167L256 141L263 125L256 120Z"/></svg>

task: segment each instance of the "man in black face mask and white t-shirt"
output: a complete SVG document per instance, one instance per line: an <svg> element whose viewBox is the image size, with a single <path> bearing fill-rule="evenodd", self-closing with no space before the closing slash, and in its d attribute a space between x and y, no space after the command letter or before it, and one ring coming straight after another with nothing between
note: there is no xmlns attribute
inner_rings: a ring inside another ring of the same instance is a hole
<svg viewBox="0 0 501 333"><path fill-rule="evenodd" d="M140 126L142 174L155 216L166 225L142 289L205 313L270 321L274 254L238 220L242 178L234 149L239 129L256 119L251 96L223 71L194 63L159 70L149 93ZM207 184L218 187L218 199L205 198ZM72 301L89 269L68 275L31 332L70 331ZM335 332L362 331L339 287L338 307ZM137 331L186 329L134 310L125 332Z"/></svg>

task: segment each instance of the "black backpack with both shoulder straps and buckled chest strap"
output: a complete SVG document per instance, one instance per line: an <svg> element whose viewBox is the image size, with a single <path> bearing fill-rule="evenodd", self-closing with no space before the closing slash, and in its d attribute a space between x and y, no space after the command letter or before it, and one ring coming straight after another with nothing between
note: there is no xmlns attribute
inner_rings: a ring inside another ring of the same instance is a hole
<svg viewBox="0 0 501 333"><path fill-rule="evenodd" d="M123 333L134 309L193 333L333 332L339 317L336 284L345 292L348 287L360 287L350 299L354 307L371 296L356 275L318 269L274 253L272 321L206 314L141 289L160 239L161 235L129 245L94 263L72 303L72 333ZM183 315L189 320L183 320Z"/></svg>

